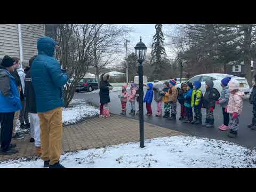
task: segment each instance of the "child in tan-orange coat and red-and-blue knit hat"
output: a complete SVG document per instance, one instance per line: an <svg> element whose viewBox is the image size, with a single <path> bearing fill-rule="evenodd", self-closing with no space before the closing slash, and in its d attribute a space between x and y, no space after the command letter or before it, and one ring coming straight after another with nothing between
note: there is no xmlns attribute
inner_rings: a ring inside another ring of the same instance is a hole
<svg viewBox="0 0 256 192"><path fill-rule="evenodd" d="M178 90L175 87L177 83L177 79L171 79L170 80L170 89L169 89L169 101L171 105L171 117L170 120L176 120L177 115L177 101L178 101Z"/></svg>

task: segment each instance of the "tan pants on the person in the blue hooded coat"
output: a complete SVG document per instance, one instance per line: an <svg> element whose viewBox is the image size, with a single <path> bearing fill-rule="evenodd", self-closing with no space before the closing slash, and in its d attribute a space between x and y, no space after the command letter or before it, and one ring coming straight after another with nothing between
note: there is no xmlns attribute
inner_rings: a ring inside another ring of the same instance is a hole
<svg viewBox="0 0 256 192"><path fill-rule="evenodd" d="M62 109L60 107L45 113L38 113L41 130L41 149L43 161L50 165L59 162L62 151Z"/></svg>

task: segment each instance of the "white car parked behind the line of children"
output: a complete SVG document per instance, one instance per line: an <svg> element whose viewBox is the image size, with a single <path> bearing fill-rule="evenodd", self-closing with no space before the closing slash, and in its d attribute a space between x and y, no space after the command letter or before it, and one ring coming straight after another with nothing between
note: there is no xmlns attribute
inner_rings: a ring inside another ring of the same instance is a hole
<svg viewBox="0 0 256 192"><path fill-rule="evenodd" d="M195 81L200 81L202 83L202 86L200 90L205 93L205 82L208 80L212 80L214 83L213 88L217 89L219 93L221 93L222 87L221 87L221 79L225 77L232 77L232 79L236 79L239 82L240 85L240 91L244 92L245 94L250 93L250 86L247 82L247 79L244 77L237 77L234 75L228 75L228 74L201 74L201 75L196 75L188 80L188 82L193 83ZM180 89L180 83L177 84L177 89Z"/></svg>

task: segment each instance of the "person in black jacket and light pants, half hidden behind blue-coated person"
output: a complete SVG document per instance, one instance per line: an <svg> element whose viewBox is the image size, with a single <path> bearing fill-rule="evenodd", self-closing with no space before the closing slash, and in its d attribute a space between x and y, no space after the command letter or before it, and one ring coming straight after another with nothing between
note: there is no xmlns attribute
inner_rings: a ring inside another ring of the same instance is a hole
<svg viewBox="0 0 256 192"><path fill-rule="evenodd" d="M37 55L29 59L29 67L31 68L34 59ZM41 140L40 140L40 122L36 110L36 95L34 85L32 84L31 71L28 70L25 78L25 95L26 95L26 110L30 117L30 142L35 142L36 153L41 155Z"/></svg>

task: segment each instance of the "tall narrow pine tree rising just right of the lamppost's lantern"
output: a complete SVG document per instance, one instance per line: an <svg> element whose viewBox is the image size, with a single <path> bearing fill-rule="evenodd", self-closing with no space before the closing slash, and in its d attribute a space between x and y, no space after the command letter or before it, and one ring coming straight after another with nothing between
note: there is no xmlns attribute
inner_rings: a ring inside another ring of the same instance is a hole
<svg viewBox="0 0 256 192"><path fill-rule="evenodd" d="M162 24L156 24L156 34L153 37L153 44L152 44L152 51L151 51L151 57L153 59L153 76L154 79L157 80L161 78L162 72L164 70L163 66L163 58L166 56L165 49L163 46L164 43L164 34L162 32ZM161 80L161 79L159 79Z"/></svg>

